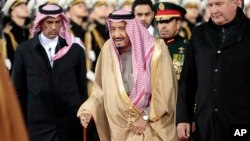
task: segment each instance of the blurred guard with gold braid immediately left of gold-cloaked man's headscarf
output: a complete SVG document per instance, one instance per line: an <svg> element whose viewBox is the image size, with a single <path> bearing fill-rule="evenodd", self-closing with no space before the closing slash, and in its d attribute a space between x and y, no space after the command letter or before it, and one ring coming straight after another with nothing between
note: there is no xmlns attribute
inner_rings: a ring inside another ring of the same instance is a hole
<svg viewBox="0 0 250 141"><path fill-rule="evenodd" d="M106 27L107 10L108 4L105 1L97 1L90 13L90 18L93 19L89 19L92 23L88 27L84 43L87 49L88 79L91 81L94 80L93 72L97 57L104 42L109 38L109 32Z"/></svg>

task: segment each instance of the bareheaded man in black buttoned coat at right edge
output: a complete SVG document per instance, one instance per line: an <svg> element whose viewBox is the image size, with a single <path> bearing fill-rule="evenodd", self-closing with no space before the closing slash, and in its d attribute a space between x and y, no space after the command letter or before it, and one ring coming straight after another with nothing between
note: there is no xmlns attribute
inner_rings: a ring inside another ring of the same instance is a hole
<svg viewBox="0 0 250 141"><path fill-rule="evenodd" d="M250 125L250 20L237 0L208 0L208 5L211 18L194 29L187 47L177 132L187 140L194 120L197 141L240 140L234 129Z"/></svg>

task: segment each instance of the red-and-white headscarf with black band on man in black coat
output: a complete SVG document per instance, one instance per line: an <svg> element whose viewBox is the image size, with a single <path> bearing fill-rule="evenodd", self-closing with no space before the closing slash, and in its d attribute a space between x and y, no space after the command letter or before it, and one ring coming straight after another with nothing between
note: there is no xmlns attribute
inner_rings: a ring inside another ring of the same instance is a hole
<svg viewBox="0 0 250 141"><path fill-rule="evenodd" d="M69 21L63 13L63 10L60 6L56 4L44 4L39 7L39 13L36 16L34 21L34 27L32 29L33 35L39 33L41 31L41 22L47 17L62 17L63 24L59 31L59 36L64 38L68 44L68 46L64 46L61 48L54 56L52 56L52 60L55 61L62 56L64 56L74 43L75 37L68 32Z"/></svg>

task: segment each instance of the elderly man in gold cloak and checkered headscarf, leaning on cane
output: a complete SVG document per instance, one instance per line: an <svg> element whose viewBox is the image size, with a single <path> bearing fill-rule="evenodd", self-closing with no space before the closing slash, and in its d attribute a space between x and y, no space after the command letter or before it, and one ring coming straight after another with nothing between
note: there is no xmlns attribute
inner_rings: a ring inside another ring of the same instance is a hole
<svg viewBox="0 0 250 141"><path fill-rule="evenodd" d="M78 117L84 127L94 118L101 141L177 141L171 57L134 17L124 10L109 15L110 40Z"/></svg>

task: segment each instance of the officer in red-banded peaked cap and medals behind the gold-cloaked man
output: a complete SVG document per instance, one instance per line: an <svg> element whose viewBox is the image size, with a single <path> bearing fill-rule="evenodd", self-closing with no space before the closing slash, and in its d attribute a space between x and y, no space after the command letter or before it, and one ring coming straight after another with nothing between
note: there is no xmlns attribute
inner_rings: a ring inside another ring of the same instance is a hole
<svg viewBox="0 0 250 141"><path fill-rule="evenodd" d="M179 79L187 40L178 33L186 10L171 2L156 3L154 10L156 12L155 21L160 38L163 38L168 46L169 53L173 59L175 72Z"/></svg>

